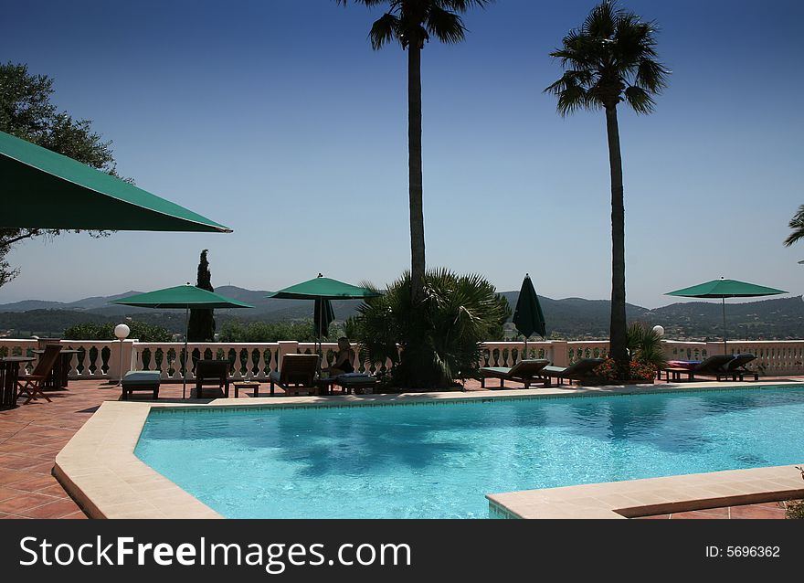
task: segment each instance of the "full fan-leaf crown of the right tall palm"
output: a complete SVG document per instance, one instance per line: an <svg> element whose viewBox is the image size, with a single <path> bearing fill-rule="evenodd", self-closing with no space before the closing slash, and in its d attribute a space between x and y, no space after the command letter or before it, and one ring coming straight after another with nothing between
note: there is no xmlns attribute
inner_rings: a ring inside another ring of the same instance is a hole
<svg viewBox="0 0 804 583"><path fill-rule="evenodd" d="M652 96L666 87L670 73L656 60L655 31L654 23L603 2L564 37L563 48L550 53L566 70L545 92L558 97L562 115L613 108L620 101L650 113Z"/></svg>

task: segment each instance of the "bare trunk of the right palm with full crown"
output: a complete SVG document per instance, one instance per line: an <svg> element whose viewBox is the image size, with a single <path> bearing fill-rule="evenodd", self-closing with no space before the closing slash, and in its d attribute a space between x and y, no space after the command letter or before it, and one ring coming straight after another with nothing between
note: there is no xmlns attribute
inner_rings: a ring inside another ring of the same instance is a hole
<svg viewBox="0 0 804 583"><path fill-rule="evenodd" d="M611 321L608 329L609 354L620 374L629 370L625 316L625 204L622 187L622 155L619 150L617 107L606 108L608 165L611 172Z"/></svg>

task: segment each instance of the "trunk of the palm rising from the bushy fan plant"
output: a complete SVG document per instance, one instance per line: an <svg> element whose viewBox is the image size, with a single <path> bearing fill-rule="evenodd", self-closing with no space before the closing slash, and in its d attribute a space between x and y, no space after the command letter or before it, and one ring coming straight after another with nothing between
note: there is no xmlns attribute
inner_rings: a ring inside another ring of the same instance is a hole
<svg viewBox="0 0 804 583"><path fill-rule="evenodd" d="M421 48L407 46L407 169L410 207L410 293L414 303L424 290L424 212L421 185Z"/></svg>

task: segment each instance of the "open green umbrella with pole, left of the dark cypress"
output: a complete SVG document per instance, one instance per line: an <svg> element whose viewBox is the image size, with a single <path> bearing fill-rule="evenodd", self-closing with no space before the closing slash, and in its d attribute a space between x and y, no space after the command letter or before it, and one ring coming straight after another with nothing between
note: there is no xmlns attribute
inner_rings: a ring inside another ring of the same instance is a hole
<svg viewBox="0 0 804 583"><path fill-rule="evenodd" d="M126 298L112 300L111 303L119 303L126 306L137 308L163 308L163 309L184 309L185 328L190 325L190 308L253 308L248 303L238 302L215 292L207 292L195 285L177 285L173 288L156 290L155 292L138 293ZM182 398L186 396L187 389L187 332L185 332L185 365L182 373ZM166 356L165 356L166 357Z"/></svg>

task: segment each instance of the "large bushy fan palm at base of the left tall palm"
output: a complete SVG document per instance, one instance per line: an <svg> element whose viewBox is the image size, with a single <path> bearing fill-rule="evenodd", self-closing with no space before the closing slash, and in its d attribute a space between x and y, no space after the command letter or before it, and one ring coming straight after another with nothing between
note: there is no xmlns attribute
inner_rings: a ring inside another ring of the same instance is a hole
<svg viewBox="0 0 804 583"><path fill-rule="evenodd" d="M428 270L424 284L424 300L414 304L406 271L358 308L356 338L372 362L391 361L394 387L450 387L476 376L481 342L511 315L480 275Z"/></svg>

